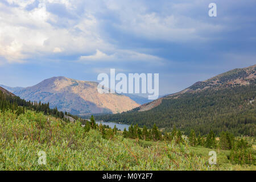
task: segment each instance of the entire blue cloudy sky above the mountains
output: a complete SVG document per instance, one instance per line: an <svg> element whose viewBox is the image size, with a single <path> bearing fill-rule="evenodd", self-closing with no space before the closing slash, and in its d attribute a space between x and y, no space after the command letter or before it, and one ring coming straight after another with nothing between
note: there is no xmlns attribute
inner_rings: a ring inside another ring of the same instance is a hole
<svg viewBox="0 0 256 182"><path fill-rule="evenodd" d="M217 16L210 17L209 3ZM0 84L159 73L179 92L256 64L255 0L1 0Z"/></svg>

